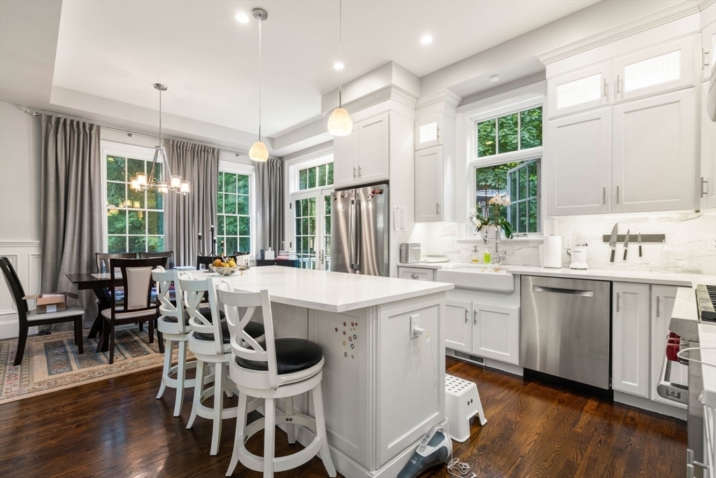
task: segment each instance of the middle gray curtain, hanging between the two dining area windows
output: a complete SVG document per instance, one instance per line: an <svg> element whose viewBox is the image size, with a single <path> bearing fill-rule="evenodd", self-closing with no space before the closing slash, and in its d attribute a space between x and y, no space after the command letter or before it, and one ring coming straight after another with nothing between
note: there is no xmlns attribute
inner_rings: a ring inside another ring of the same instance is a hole
<svg viewBox="0 0 716 478"><path fill-rule="evenodd" d="M174 252L176 265L193 265L200 253L199 233L204 239L201 252L211 248L209 234L216 221L219 150L188 141L168 140L167 161L172 174L189 181L190 193L186 196L168 194L164 250Z"/></svg>

